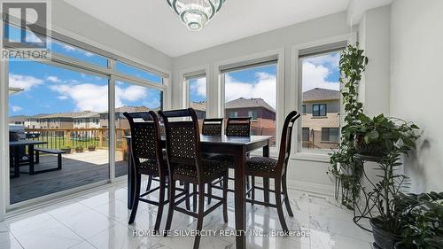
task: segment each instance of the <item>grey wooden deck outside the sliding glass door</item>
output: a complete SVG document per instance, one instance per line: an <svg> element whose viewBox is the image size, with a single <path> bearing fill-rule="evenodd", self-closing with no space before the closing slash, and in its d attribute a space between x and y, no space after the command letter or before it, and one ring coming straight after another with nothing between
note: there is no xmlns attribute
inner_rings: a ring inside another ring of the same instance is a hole
<svg viewBox="0 0 443 249"><path fill-rule="evenodd" d="M127 175L127 162L121 152L116 153L115 176ZM63 155L63 168L38 175L20 174L11 179L11 204L31 198L45 196L58 191L97 183L109 178L108 151L82 152ZM42 155L35 169L57 167L57 156ZM28 166L20 167L28 171Z"/></svg>

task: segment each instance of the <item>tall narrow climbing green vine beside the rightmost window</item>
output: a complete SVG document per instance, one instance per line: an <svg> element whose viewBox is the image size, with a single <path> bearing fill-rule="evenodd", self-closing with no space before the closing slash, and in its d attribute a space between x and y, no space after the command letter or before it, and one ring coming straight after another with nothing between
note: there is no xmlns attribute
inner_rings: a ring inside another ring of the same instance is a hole
<svg viewBox="0 0 443 249"><path fill-rule="evenodd" d="M329 173L337 177L338 188L341 188L341 203L353 209L354 198L360 193L360 186L355 179L361 178L361 164L354 161L354 131L350 129L358 121L359 114L363 113L363 105L358 100L358 85L361 74L368 65L368 58L358 48L358 43L350 44L340 56L340 90L343 105L345 106L345 125L341 128L340 146L337 152L330 156ZM338 198L338 195L336 195Z"/></svg>

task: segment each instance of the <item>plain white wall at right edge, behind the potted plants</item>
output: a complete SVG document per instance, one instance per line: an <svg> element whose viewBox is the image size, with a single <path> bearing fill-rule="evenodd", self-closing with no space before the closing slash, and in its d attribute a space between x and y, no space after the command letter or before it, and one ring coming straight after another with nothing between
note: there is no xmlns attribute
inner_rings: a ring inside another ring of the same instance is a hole
<svg viewBox="0 0 443 249"><path fill-rule="evenodd" d="M412 191L443 189L443 1L392 3L391 114L424 130L406 164Z"/></svg>

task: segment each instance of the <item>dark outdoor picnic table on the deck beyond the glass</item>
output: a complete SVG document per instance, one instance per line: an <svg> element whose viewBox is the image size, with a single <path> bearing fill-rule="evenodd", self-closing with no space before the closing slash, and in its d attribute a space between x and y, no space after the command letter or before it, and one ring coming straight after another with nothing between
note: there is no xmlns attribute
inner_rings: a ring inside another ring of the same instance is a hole
<svg viewBox="0 0 443 249"><path fill-rule="evenodd" d="M11 148L13 157L14 175L11 178L16 178L20 176L20 161L19 161L19 149L27 147L27 156L29 157L29 173L34 172L34 146L38 144L48 144L48 142L34 141L34 140L19 140L9 142L9 147Z"/></svg>

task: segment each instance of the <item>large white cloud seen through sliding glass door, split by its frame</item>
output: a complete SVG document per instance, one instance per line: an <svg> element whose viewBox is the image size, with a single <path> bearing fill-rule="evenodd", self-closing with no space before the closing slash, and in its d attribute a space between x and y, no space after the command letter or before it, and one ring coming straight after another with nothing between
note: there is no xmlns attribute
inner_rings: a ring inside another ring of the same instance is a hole
<svg viewBox="0 0 443 249"><path fill-rule="evenodd" d="M76 105L76 111L105 112L108 110L108 86L90 83L52 85L50 89L60 96L58 99L71 98ZM125 102L135 102L147 96L147 89L131 85L127 88L115 87L115 106L126 105Z"/></svg>

